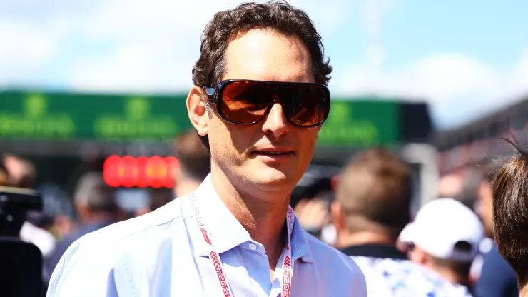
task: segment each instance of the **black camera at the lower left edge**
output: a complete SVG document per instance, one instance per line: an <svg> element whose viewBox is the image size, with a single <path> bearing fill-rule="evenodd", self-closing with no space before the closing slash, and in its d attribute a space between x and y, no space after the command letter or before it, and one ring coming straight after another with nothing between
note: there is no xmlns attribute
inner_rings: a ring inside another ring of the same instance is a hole
<svg viewBox="0 0 528 297"><path fill-rule="evenodd" d="M19 238L27 211L41 209L36 191L0 186L0 296L43 295L42 253Z"/></svg>

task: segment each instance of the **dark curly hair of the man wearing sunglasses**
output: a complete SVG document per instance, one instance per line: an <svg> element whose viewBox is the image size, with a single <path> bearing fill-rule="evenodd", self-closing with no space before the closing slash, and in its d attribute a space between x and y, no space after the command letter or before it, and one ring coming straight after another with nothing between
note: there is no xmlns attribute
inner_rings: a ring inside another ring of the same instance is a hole
<svg viewBox="0 0 528 297"><path fill-rule="evenodd" d="M196 86L215 86L225 70L225 50L233 36L251 29L273 29L282 34L298 36L310 52L315 82L328 85L332 66L324 57L321 36L308 14L287 1L269 1L263 4L244 3L235 9L220 11L205 26L200 46L200 58L193 67ZM209 109L210 110L210 109ZM208 136L200 136L209 148Z"/></svg>

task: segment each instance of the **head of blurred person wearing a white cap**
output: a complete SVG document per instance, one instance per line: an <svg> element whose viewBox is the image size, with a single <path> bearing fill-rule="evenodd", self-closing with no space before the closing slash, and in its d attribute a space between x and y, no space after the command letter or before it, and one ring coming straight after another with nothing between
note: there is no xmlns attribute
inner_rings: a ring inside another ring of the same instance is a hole
<svg viewBox="0 0 528 297"><path fill-rule="evenodd" d="M471 288L469 270L479 251L484 228L478 216L452 198L426 203L400 233L410 245L409 258L451 283Z"/></svg>

